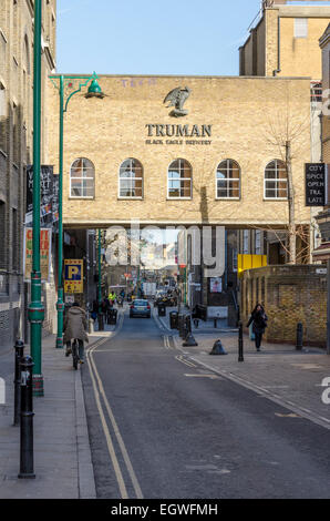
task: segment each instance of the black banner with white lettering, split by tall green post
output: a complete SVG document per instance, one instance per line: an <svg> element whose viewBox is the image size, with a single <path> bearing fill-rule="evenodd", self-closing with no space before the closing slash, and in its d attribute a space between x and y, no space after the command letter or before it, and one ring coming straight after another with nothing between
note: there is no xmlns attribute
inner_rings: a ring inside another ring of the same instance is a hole
<svg viewBox="0 0 330 521"><path fill-rule="evenodd" d="M54 176L52 165L41 165L40 172L40 222L41 226L50 227L53 224L53 213L59 204L54 200ZM59 188L58 188L59 192ZM55 208L53 210L53 202ZM33 165L27 166L27 208L25 225L31 226L33 218Z"/></svg>

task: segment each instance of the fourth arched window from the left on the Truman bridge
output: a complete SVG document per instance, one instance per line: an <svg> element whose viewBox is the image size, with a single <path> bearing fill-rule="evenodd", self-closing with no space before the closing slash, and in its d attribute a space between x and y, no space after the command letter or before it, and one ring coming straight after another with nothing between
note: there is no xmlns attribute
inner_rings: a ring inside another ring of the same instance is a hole
<svg viewBox="0 0 330 521"><path fill-rule="evenodd" d="M235 198L240 197L240 167L236 161L225 160L217 167L217 198Z"/></svg>

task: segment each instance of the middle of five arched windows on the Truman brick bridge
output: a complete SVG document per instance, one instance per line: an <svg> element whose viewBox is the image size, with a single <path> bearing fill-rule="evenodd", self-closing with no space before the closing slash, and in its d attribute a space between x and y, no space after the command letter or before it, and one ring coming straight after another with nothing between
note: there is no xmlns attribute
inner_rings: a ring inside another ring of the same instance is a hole
<svg viewBox="0 0 330 521"><path fill-rule="evenodd" d="M167 196L171 198L192 198L193 170L186 160L175 160L168 167Z"/></svg>

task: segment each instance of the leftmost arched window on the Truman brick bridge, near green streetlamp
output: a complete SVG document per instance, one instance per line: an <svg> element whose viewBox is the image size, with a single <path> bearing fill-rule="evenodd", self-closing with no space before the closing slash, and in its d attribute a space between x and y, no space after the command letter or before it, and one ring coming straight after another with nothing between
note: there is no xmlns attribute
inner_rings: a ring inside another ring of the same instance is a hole
<svg viewBox="0 0 330 521"><path fill-rule="evenodd" d="M70 196L94 197L95 195L95 168L93 163L85 157L75 160L70 168Z"/></svg>

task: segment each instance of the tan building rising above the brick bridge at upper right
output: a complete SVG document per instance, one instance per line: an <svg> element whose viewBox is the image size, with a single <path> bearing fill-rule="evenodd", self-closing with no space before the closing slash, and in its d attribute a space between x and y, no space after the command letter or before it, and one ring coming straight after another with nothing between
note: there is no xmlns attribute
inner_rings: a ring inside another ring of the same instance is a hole
<svg viewBox="0 0 330 521"><path fill-rule="evenodd" d="M287 4L265 0L257 23L239 49L240 75L309 76L320 81L319 38L330 18L329 6Z"/></svg>

